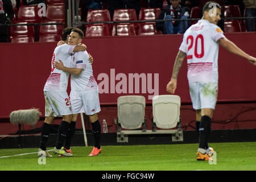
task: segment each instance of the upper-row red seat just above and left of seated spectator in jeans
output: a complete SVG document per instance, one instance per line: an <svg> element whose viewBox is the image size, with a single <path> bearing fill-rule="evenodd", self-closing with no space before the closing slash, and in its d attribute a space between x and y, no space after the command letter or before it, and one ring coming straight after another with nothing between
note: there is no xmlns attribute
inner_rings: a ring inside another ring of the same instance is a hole
<svg viewBox="0 0 256 182"><path fill-rule="evenodd" d="M142 8L139 11L139 20L154 20L158 19L161 13L160 8Z"/></svg>

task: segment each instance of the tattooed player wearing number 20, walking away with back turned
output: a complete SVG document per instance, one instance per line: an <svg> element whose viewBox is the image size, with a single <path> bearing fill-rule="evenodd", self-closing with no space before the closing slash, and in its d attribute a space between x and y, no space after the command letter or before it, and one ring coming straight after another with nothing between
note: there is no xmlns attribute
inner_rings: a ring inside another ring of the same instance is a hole
<svg viewBox="0 0 256 182"><path fill-rule="evenodd" d="M175 93L179 69L187 56L189 92L193 109L196 110L199 148L197 160L212 160L213 150L208 146L213 110L218 92L218 45L239 55L256 66L256 59L243 52L228 40L217 26L221 19L221 6L216 2L207 2L203 7L203 18L185 32L183 42L177 53L171 81L167 92ZM200 122L199 122L200 121Z"/></svg>

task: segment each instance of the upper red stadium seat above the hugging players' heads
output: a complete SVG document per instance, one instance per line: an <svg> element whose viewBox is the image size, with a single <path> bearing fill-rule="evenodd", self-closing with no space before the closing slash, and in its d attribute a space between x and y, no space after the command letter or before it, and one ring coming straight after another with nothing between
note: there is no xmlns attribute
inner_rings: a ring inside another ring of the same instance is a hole
<svg viewBox="0 0 256 182"><path fill-rule="evenodd" d="M46 10L46 20L65 23L65 6L49 5Z"/></svg>

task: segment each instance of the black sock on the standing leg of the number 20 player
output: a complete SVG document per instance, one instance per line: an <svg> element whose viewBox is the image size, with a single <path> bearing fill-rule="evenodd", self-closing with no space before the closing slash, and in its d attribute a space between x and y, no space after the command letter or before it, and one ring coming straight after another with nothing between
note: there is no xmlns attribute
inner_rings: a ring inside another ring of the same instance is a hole
<svg viewBox="0 0 256 182"><path fill-rule="evenodd" d="M210 127L211 127L212 119L207 115L203 115L200 121L199 128L199 148L207 150L208 148L208 140L210 136Z"/></svg>

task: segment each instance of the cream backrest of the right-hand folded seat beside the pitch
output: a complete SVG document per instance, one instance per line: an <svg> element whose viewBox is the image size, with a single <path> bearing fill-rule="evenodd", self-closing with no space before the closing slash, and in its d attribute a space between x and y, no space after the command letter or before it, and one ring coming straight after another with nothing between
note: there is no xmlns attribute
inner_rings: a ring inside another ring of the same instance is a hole
<svg viewBox="0 0 256 182"><path fill-rule="evenodd" d="M172 129L180 118L180 97L175 95L154 96L152 99L153 117L160 129Z"/></svg>

